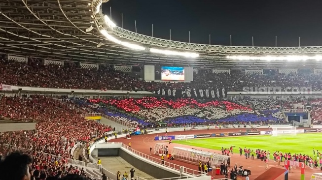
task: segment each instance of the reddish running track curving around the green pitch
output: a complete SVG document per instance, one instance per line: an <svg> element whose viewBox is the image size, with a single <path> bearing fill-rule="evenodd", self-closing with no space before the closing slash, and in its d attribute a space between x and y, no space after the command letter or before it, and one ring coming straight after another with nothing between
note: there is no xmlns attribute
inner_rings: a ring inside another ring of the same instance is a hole
<svg viewBox="0 0 322 180"><path fill-rule="evenodd" d="M169 129L171 130L171 129ZM239 130L242 130L243 132L245 132L245 129L210 129L210 130L187 130L186 132L183 131L178 131L178 132L168 132L168 136L172 136L172 135L183 135L183 134L210 134L210 133L223 133L223 132L238 132ZM261 128L260 130L269 130L269 129L264 129ZM130 142L132 143L131 148L134 150L138 150L144 154L149 154L150 153L150 146L152 146L152 148L154 148L154 145L156 143L161 143L163 141L154 141L154 137L157 134L145 134L145 135L138 135L138 136L132 136L131 140L128 139L123 139L123 138L118 138L118 139L112 139L109 142L122 142L125 145L128 145ZM162 136L163 133L158 134L159 136ZM218 138L218 137L216 137ZM222 137L224 138L224 137ZM166 143L166 142L163 142ZM169 145L169 151L171 152L171 148L174 146L179 146L179 147L185 147L185 148L196 148L197 150L204 150L204 151L212 151L212 152L216 152L216 153L221 153L220 150L211 150L211 149L206 149L206 148L199 148L199 147L193 147L193 146L186 146L186 145L179 145L179 144L175 144L172 143ZM245 144L245 146L247 148L247 143ZM244 148L242 147L242 148ZM229 147L224 147L224 148L229 148ZM237 150L235 150L236 152L238 151L239 147L236 147ZM274 150L270 150L271 152L273 152ZM153 152L152 152L153 153ZM150 155L152 157L155 157L157 159L160 159L160 156L157 155ZM251 160L251 159L246 159L245 156L240 156L239 153L237 152L237 154L231 154L231 168L234 167L234 165L237 163L238 166L242 165L244 167L244 169L249 169L251 171L251 175L250 175L250 179L255 179L256 177L258 177L259 175L261 175L262 173L264 173L265 170L265 164L264 162L255 159L255 160ZM178 161L178 160L169 160L169 159L165 159L165 161L167 162L171 162L173 164L179 165L179 166L184 166L190 169L194 169L194 170L198 170L198 166L193 165L193 164L189 164L186 162L182 162L182 161ZM278 168L284 168L282 166L277 166L277 162L274 162L273 160L271 160L269 162L269 168L270 167L278 167ZM231 171L231 169L229 170ZM189 172L189 171L188 171ZM313 173L317 173L317 172L322 172L320 170L320 168L313 168L311 169L310 167L306 167L305 168L305 180L310 180L311 179L311 175ZM210 176L214 176L214 179L220 179L220 178L224 178L224 176L222 175L215 175L214 171L208 173L208 175ZM300 169L296 168L296 169L291 169L291 172L288 173L288 180L299 180L300 179ZM229 178L229 176L228 176ZM239 177L242 180L245 180L245 178L243 177ZM276 180L284 180L284 174L282 174L279 178L277 178Z"/></svg>

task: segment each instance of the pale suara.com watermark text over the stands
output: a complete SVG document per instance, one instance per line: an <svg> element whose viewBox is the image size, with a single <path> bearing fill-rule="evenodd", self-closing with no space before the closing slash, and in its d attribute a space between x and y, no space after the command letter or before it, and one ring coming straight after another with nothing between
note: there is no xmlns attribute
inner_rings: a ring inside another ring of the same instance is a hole
<svg viewBox="0 0 322 180"><path fill-rule="evenodd" d="M311 87L243 87L244 94L267 94L267 93L287 93L287 94L310 94L312 93Z"/></svg>

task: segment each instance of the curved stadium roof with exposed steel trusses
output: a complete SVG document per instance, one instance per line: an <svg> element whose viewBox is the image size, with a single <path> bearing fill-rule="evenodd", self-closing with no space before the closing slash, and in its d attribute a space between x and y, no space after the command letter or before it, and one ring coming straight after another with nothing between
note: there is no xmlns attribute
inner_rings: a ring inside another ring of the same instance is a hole
<svg viewBox="0 0 322 180"><path fill-rule="evenodd" d="M106 2L108 0L105 0ZM109 41L104 16L94 13L95 0L0 0L0 52L52 60L107 64L164 64L204 68L322 68L319 60L232 60L227 56L316 56L322 47L237 47L190 44L159 39L115 27L108 30L125 43L146 48L131 50ZM94 19L95 18L95 19ZM98 27L99 26L99 27ZM93 28L91 28L93 27ZM102 42L102 43L101 43ZM198 53L198 58L154 54L149 48Z"/></svg>

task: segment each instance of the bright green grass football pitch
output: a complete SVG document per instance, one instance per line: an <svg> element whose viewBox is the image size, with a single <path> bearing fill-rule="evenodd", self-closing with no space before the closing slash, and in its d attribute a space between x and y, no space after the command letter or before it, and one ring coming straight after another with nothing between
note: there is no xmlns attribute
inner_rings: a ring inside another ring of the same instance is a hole
<svg viewBox="0 0 322 180"><path fill-rule="evenodd" d="M275 150L293 153L308 154L313 156L313 149L322 152L322 133L302 133L297 135L281 136L236 136L222 138L203 138L174 140L173 143L195 146L213 150L221 150L221 147L229 148L235 146L234 153L239 153L239 148L250 150L269 150L271 155ZM197 148L196 148L197 149Z"/></svg>

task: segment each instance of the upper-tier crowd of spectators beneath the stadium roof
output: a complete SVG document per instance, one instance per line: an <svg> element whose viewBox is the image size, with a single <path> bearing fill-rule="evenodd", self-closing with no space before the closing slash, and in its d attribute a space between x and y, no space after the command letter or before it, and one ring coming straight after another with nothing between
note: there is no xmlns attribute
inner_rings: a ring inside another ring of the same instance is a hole
<svg viewBox="0 0 322 180"><path fill-rule="evenodd" d="M68 62L61 66L9 60L0 60L0 71L0 84L26 87L145 91L169 88L227 88L228 91L243 91L243 87L312 87L314 91L322 90L322 74L215 74L200 71L194 74L191 83L161 83L145 82L110 66L85 69Z"/></svg>

